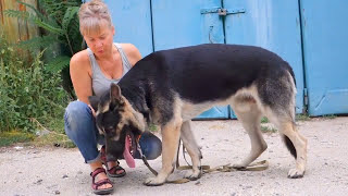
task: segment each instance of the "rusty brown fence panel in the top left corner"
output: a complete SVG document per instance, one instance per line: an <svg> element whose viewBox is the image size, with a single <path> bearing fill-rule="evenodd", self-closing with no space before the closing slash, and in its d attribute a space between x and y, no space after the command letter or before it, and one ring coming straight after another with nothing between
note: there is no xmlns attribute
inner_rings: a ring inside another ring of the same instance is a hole
<svg viewBox="0 0 348 196"><path fill-rule="evenodd" d="M23 2L37 7L37 0L23 0ZM15 0L0 0L0 33L3 32L10 42L15 44L39 35L36 25L21 19L8 17L3 13L4 10L34 11Z"/></svg>

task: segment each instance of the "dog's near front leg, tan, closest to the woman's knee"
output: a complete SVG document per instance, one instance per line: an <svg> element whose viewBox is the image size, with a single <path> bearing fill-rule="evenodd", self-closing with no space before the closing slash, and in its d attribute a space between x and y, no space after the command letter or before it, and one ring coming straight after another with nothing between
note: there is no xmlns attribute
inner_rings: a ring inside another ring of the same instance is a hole
<svg viewBox="0 0 348 196"><path fill-rule="evenodd" d="M149 177L145 185L162 185L174 171L178 139L181 136L182 121L171 121L161 126L162 131L162 169L156 177Z"/></svg>

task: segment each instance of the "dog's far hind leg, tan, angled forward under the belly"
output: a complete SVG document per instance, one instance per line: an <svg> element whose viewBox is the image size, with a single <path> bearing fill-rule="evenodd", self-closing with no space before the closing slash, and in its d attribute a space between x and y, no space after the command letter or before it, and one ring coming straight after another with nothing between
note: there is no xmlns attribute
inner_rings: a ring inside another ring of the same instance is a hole
<svg viewBox="0 0 348 196"><path fill-rule="evenodd" d="M253 98L239 98L237 100L238 101L233 103L233 109L238 121L241 122L244 128L249 135L251 150L247 158L245 158L240 163L234 164L234 167L246 168L268 148L268 145L264 142L261 133L260 123L262 113L258 108L256 100Z"/></svg>

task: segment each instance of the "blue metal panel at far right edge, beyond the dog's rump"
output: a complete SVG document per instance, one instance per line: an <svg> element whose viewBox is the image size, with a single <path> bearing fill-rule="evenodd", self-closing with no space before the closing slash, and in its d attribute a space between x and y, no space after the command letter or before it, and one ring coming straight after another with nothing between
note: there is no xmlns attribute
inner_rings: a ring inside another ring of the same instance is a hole
<svg viewBox="0 0 348 196"><path fill-rule="evenodd" d="M348 113L347 0L300 0L310 115Z"/></svg>

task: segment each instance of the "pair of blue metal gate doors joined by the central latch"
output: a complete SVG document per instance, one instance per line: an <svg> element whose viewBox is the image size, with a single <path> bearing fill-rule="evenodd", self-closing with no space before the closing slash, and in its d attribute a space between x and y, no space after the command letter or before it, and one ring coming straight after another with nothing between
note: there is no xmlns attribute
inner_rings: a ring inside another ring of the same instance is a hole
<svg viewBox="0 0 348 196"><path fill-rule="evenodd" d="M303 109L303 66L298 3L264 0L152 0L154 50L225 42L261 46L294 68L297 111ZM228 118L227 107L198 118ZM231 114L228 114L231 113Z"/></svg>

